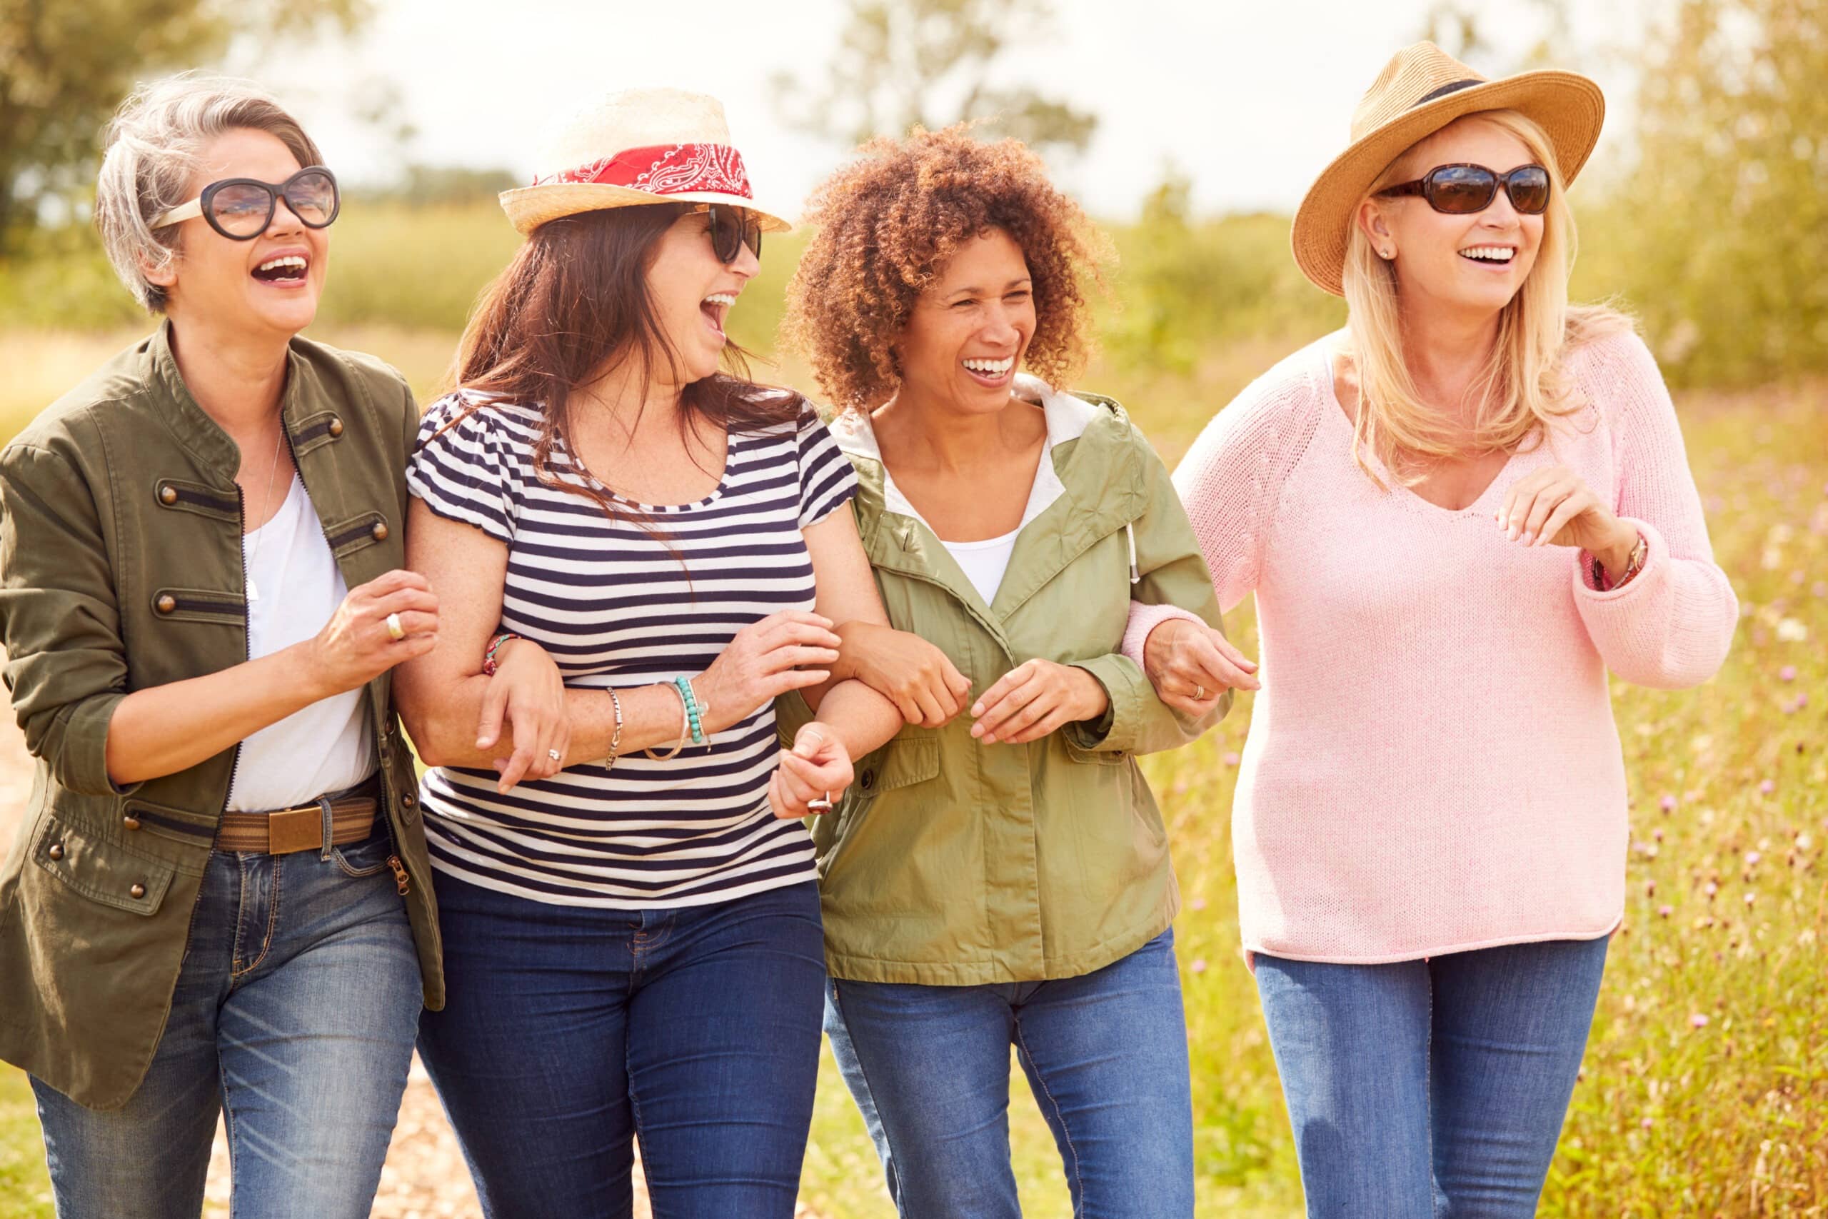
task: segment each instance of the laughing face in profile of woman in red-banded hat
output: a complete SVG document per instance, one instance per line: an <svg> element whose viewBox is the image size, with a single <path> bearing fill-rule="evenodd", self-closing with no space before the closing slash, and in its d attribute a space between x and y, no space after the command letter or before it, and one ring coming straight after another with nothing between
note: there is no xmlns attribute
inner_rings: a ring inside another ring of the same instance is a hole
<svg viewBox="0 0 1828 1219"><path fill-rule="evenodd" d="M717 373L729 342L724 322L742 285L760 270L748 243L737 261L720 261L711 250L709 225L707 212L686 212L654 241L647 265L647 292L654 302L660 331L678 353L680 384ZM665 367L654 369L656 382L664 382L667 375Z"/></svg>

